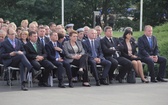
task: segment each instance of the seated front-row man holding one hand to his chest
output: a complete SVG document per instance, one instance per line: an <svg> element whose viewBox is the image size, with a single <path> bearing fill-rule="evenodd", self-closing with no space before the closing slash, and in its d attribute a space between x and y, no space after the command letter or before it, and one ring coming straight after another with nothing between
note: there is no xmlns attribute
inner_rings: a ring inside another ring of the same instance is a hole
<svg viewBox="0 0 168 105"><path fill-rule="evenodd" d="M62 85L63 81L63 69L66 69L66 73L69 79L69 87L73 87L72 84L72 73L71 73L71 67L69 62L63 60L63 50L61 48L60 43L58 43L58 34L56 32L50 33L50 39L51 41L46 44L45 48L47 51L47 58L50 60L56 67L57 67L57 76L59 80L58 87L65 87Z"/></svg>

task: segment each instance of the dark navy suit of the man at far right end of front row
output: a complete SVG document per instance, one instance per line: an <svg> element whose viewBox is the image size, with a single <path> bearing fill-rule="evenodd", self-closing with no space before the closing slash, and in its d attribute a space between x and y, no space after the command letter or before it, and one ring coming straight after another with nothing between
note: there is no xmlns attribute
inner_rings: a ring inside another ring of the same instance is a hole
<svg viewBox="0 0 168 105"><path fill-rule="evenodd" d="M148 70L150 71L151 80L155 80L155 74L154 74L154 62L149 56L158 56L158 61L156 63L159 63L159 73L157 77L163 78L165 69L166 69L166 58L161 57L158 55L158 46L157 46L157 40L156 37L152 35L152 47L150 47L148 39L145 35L138 38L138 48L139 48L139 56L141 57L142 62L145 62L148 65Z"/></svg>

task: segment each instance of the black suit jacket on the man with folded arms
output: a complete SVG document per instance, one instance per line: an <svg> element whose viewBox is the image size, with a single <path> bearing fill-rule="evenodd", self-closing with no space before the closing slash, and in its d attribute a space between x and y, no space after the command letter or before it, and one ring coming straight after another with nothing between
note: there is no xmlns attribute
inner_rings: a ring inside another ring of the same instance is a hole
<svg viewBox="0 0 168 105"><path fill-rule="evenodd" d="M123 45L119 39L113 37L113 42L114 44L112 44L106 36L100 40L104 57L111 57L115 55L116 51L122 51ZM115 47L116 50L113 50L112 47Z"/></svg>

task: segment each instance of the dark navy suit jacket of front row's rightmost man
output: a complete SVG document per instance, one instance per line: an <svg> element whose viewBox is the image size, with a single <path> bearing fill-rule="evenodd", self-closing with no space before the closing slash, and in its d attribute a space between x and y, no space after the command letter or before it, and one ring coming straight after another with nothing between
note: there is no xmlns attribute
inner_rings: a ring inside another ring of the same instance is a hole
<svg viewBox="0 0 168 105"><path fill-rule="evenodd" d="M140 57L149 57L150 55L158 55L158 45L156 37L152 35L152 48L150 48L148 39L145 35L138 38L138 51Z"/></svg>

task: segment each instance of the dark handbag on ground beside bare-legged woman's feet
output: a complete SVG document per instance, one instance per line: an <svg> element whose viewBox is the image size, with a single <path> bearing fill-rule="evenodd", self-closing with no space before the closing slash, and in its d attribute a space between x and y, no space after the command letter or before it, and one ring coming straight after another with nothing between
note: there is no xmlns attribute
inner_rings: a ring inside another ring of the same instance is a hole
<svg viewBox="0 0 168 105"><path fill-rule="evenodd" d="M127 74L127 83L136 83L134 69L131 69L131 71Z"/></svg>

